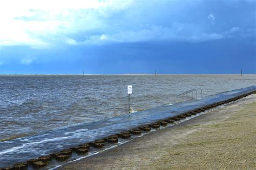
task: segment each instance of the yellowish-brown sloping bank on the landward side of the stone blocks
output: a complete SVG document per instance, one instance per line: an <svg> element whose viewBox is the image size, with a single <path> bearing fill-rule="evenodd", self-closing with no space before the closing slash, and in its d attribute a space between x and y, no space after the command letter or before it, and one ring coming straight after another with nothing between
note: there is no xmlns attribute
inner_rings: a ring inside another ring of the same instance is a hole
<svg viewBox="0 0 256 170"><path fill-rule="evenodd" d="M60 169L254 169L256 94Z"/></svg>

